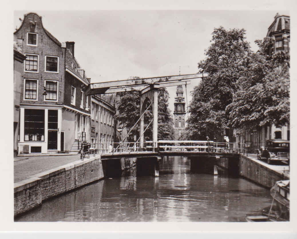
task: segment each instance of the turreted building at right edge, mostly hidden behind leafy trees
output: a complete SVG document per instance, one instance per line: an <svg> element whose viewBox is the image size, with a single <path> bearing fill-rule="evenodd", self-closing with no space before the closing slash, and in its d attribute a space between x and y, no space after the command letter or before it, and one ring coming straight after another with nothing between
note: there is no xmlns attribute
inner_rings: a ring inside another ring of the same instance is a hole
<svg viewBox="0 0 297 239"><path fill-rule="evenodd" d="M273 44L269 48L268 55L276 51L290 51L290 17L285 15L276 15L274 21L268 27L266 37L273 39ZM278 126L271 124L267 127L262 127L261 130L253 130L245 134L237 133L233 129L233 138L236 137L237 143L249 143L251 149L258 149L264 146L268 139L287 139L290 140L290 126Z"/></svg>

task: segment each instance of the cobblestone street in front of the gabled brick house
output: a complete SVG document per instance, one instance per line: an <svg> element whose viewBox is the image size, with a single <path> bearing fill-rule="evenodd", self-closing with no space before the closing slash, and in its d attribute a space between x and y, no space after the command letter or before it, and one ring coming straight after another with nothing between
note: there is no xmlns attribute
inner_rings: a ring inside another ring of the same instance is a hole
<svg viewBox="0 0 297 239"><path fill-rule="evenodd" d="M80 160L80 154L65 156L27 156L14 162L14 182L41 173L64 164Z"/></svg>

